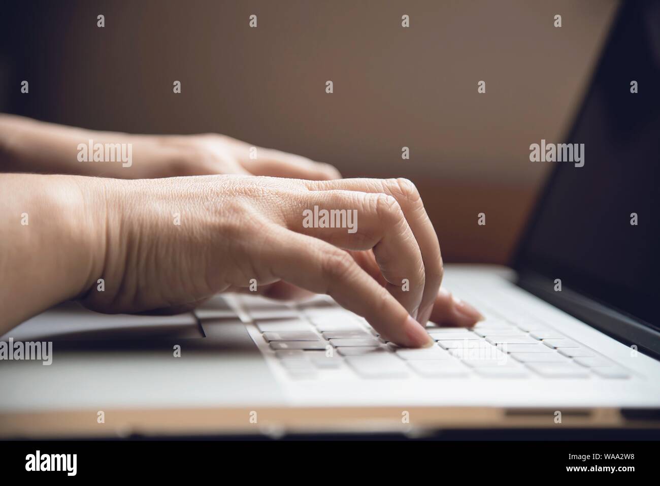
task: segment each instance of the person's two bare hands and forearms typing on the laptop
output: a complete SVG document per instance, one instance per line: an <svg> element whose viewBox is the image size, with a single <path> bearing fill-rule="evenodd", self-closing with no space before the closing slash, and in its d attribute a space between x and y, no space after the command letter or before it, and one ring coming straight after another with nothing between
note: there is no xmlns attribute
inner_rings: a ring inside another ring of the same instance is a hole
<svg viewBox="0 0 660 486"><path fill-rule="evenodd" d="M259 147L251 159L250 145L221 135L90 132L9 116L0 133L3 172L84 174L0 175L0 272L16 282L0 289L0 333L67 299L98 312L175 313L246 291L251 279L273 298L331 295L409 347L431 342L420 324L429 318L481 318L440 290L438 238L409 180L339 179L327 164ZM78 162L90 138L133 143L133 166ZM356 232L305 228L315 205L355 209Z"/></svg>

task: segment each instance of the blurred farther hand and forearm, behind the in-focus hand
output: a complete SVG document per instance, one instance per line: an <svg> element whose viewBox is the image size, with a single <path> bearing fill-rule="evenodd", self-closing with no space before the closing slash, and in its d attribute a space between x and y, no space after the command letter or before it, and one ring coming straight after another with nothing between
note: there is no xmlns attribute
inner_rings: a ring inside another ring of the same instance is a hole
<svg viewBox="0 0 660 486"><path fill-rule="evenodd" d="M130 144L133 160L78 160L78 145ZM86 130L0 114L0 172L78 174L116 179L152 179L209 174L251 174L308 180L339 179L329 164L255 147L225 135L136 135Z"/></svg>

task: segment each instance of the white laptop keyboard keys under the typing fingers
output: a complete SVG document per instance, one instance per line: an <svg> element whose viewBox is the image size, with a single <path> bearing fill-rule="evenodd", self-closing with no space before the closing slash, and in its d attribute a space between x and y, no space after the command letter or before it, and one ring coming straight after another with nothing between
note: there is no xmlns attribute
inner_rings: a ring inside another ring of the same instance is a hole
<svg viewBox="0 0 660 486"><path fill-rule="evenodd" d="M238 300L279 365L296 379L337 376L339 370L366 379L630 378L628 370L570 336L529 316L504 318L472 297L486 320L471 329L429 324L436 344L426 349L385 341L329 299L299 305L254 296Z"/></svg>

